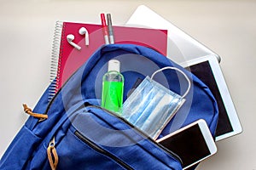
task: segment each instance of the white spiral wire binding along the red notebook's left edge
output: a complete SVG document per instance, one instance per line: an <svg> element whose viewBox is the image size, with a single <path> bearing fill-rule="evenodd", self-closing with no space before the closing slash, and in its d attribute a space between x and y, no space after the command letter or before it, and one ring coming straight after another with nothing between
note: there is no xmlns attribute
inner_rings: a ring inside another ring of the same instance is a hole
<svg viewBox="0 0 256 170"><path fill-rule="evenodd" d="M49 73L49 97L48 100L50 101L56 94L58 89L58 82L59 82L59 67L60 67L60 51L61 51L61 35L62 35L62 26L63 22L56 21L55 24L55 33L53 38L53 45L51 51L51 61L50 61L50 73Z"/></svg>

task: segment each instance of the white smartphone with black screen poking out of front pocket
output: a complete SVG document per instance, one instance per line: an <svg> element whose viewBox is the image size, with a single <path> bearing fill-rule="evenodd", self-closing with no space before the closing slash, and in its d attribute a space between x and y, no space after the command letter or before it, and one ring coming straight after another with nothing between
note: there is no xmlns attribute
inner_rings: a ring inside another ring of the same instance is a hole
<svg viewBox="0 0 256 170"><path fill-rule="evenodd" d="M183 169L192 167L217 152L207 122L202 119L157 139L156 142L177 154L183 161Z"/></svg>

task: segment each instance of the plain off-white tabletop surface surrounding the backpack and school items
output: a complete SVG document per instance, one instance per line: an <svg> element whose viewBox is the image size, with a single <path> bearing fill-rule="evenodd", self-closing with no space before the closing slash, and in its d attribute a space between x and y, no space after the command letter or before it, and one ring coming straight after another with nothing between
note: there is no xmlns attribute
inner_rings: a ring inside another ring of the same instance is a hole
<svg viewBox="0 0 256 170"><path fill-rule="evenodd" d="M202 0L1 0L0 156L49 85L56 20L94 22L109 12L122 25L147 5L222 57L221 67L243 133L218 141L218 153L197 169L256 169L256 2Z"/></svg>

